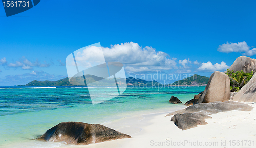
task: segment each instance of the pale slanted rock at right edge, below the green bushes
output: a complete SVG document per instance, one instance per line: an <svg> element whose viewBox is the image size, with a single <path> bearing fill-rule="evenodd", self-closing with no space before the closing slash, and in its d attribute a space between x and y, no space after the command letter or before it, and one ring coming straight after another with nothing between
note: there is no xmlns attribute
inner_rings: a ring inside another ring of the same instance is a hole
<svg viewBox="0 0 256 148"><path fill-rule="evenodd" d="M250 81L234 95L233 101L256 102L256 75L253 75Z"/></svg>

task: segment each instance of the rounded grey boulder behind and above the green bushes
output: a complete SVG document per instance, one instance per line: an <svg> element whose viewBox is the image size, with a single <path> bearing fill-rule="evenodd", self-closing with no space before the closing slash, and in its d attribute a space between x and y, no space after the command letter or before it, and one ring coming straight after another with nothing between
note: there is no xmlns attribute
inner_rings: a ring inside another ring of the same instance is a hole
<svg viewBox="0 0 256 148"><path fill-rule="evenodd" d="M250 57L246 57L246 56L240 56L238 57L234 63L230 66L229 68L230 71L243 71L245 73L251 73L251 71L253 70L253 72L255 72L256 70L256 59L251 59ZM224 73L226 73L227 71L225 71Z"/></svg>

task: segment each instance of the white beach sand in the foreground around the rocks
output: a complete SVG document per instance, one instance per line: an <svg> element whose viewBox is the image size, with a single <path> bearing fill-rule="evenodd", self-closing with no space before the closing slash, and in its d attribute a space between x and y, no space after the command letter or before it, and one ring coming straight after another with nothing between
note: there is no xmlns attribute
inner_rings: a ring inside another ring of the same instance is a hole
<svg viewBox="0 0 256 148"><path fill-rule="evenodd" d="M172 116L164 117L172 111L124 117L105 126L132 138L65 147L255 147L256 103L250 105L252 111L212 114L207 125L184 131L170 121Z"/></svg>

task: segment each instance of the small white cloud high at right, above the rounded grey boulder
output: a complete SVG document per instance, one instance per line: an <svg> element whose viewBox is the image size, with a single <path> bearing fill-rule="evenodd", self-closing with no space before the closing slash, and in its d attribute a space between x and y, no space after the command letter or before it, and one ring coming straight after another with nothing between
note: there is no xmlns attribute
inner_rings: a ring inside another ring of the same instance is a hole
<svg viewBox="0 0 256 148"><path fill-rule="evenodd" d="M250 47L247 45L245 41L238 43L226 43L219 45L217 49L219 52L230 53L230 52L247 52Z"/></svg>

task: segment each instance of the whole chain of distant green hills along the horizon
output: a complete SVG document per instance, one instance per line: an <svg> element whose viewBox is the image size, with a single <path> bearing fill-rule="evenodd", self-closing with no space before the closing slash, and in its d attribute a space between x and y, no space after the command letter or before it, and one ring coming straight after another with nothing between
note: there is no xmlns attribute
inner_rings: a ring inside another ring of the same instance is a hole
<svg viewBox="0 0 256 148"><path fill-rule="evenodd" d="M104 78L97 77L94 75L84 75L84 77L86 78L86 82L88 82L88 83L94 82L95 86L116 86L116 82L115 82L114 78L104 79ZM49 86L87 86L86 82L83 83L83 81L80 81L81 78L83 79L83 76L77 77L77 79L75 78L73 80L73 82L75 82L77 85L72 85L69 82L69 78L66 77L66 78L63 78L63 79L60 79L57 81L33 80L25 85L18 85L18 86L45 86L45 87L49 87ZM128 77L126 79L124 79L124 78L116 78L116 79L117 79L117 83L119 86L125 84L124 81L126 81L127 86L140 86L140 85L158 86L158 85L162 85L161 83L159 83L155 80L147 81L147 80L138 79L138 78L136 79L133 77ZM208 81L209 81L208 77L194 74L191 77L176 81L169 85L185 85L185 84L187 84L188 86L204 86L208 83Z"/></svg>

